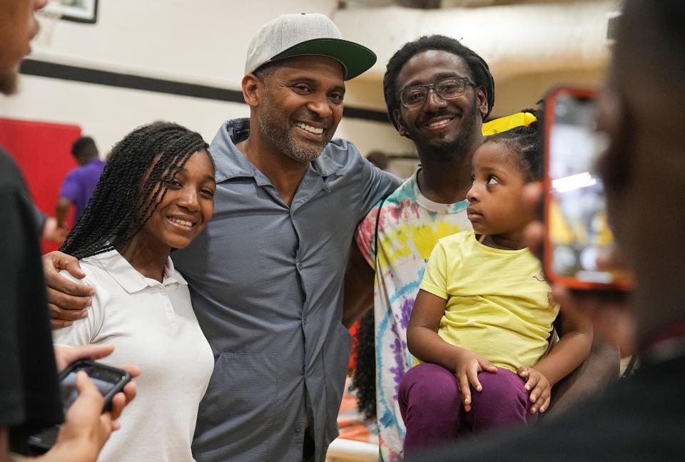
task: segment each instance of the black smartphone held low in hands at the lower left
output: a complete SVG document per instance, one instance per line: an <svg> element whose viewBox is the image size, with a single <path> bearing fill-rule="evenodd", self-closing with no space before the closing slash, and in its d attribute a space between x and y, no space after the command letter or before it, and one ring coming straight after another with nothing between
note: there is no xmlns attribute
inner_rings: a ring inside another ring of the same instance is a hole
<svg viewBox="0 0 685 462"><path fill-rule="evenodd" d="M59 389L65 414L67 409L73 404L73 401L76 401L76 398L78 398L78 389L76 389L76 374L78 371L85 371L88 374L88 378L91 379L104 397L103 412L111 409L114 395L122 391L123 387L131 380L131 375L123 369L106 366L88 359L81 359L69 364L59 374ZM49 451L54 446L59 428L59 425L51 426L29 436L29 446L31 446L35 453Z"/></svg>

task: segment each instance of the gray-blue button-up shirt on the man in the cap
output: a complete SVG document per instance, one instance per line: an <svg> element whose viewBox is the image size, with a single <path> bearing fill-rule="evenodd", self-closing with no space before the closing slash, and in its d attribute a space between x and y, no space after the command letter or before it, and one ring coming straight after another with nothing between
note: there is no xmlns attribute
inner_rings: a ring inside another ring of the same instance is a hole
<svg viewBox="0 0 685 462"><path fill-rule="evenodd" d="M229 120L210 151L214 217L173 252L215 356L193 441L198 461L301 461L310 428L316 459L338 435L351 339L340 319L352 235L400 184L345 140L310 163L288 205L235 143ZM295 431L293 431L295 429Z"/></svg>

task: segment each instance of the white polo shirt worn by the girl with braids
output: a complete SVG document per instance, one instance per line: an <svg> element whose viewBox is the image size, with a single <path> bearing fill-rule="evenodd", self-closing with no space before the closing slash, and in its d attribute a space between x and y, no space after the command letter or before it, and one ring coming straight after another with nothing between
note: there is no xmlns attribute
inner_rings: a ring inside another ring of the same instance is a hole
<svg viewBox="0 0 685 462"><path fill-rule="evenodd" d="M163 282L144 277L116 250L81 260L96 289L88 317L54 331L59 346L114 345L103 363L136 364L138 394L121 416L100 462L193 460L191 442L198 405L212 375L214 357L193 313L188 283L173 269Z"/></svg>

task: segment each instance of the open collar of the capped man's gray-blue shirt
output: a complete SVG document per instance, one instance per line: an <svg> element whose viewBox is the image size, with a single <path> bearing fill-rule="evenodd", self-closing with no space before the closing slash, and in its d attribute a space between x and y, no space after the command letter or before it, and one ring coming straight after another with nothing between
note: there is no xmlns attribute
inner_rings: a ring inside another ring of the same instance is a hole
<svg viewBox="0 0 685 462"><path fill-rule="evenodd" d="M252 177L258 179L258 171L243 153L235 147L250 135L250 119L238 118L227 120L214 137L209 147L210 153L216 165L215 179L217 183L230 178ZM322 178L333 175L342 168L330 156L330 145L327 145L323 153L310 163L310 170Z"/></svg>

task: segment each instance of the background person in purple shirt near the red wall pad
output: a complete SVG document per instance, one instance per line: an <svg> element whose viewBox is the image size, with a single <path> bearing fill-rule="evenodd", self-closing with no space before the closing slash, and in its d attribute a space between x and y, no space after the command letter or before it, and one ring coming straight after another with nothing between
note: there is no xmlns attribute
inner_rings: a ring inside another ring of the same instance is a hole
<svg viewBox="0 0 685 462"><path fill-rule="evenodd" d="M95 141L89 136L81 136L71 145L71 155L76 158L78 167L66 174L64 183L59 190L59 200L55 207L57 226L66 228L66 213L70 205L76 207L73 222L76 223L81 217L83 209L88 205L95 186L100 180L105 163L100 160Z"/></svg>

